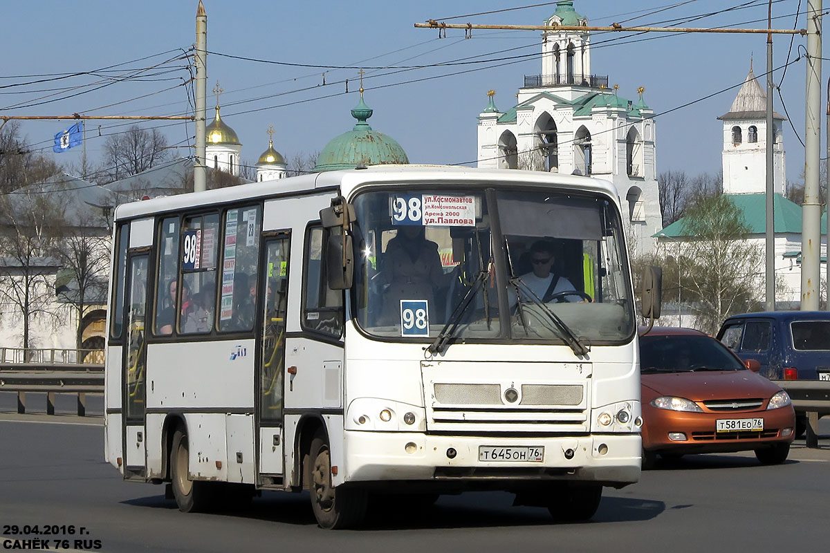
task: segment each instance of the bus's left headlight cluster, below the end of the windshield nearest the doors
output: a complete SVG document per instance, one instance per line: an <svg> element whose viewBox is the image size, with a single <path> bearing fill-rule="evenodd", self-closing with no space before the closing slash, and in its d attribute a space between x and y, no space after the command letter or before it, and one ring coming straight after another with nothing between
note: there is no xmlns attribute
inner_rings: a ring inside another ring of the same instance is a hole
<svg viewBox="0 0 830 553"><path fill-rule="evenodd" d="M344 424L347 430L423 432L426 418L426 410L417 405L361 397L349 404Z"/></svg>

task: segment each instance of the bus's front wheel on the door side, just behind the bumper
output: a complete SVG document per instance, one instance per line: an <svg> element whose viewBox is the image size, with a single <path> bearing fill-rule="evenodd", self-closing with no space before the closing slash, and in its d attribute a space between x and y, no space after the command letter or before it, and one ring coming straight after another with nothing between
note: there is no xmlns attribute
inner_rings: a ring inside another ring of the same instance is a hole
<svg viewBox="0 0 830 553"><path fill-rule="evenodd" d="M331 483L331 455L324 434L317 434L309 450L311 508L317 524L326 530L357 526L366 515L367 493Z"/></svg>

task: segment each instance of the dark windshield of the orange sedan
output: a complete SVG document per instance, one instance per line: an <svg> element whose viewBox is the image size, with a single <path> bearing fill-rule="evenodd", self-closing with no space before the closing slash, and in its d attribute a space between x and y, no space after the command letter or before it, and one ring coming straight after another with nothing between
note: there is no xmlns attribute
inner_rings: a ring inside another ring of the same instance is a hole
<svg viewBox="0 0 830 553"><path fill-rule="evenodd" d="M746 367L714 338L700 335L640 337L640 372L741 371Z"/></svg>

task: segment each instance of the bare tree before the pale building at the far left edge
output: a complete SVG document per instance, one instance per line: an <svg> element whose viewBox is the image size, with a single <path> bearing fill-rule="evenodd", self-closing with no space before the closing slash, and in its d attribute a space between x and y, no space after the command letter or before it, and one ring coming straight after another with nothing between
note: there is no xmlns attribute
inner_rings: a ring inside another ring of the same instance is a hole
<svg viewBox="0 0 830 553"><path fill-rule="evenodd" d="M30 328L38 318L56 321L52 256L64 230L62 207L36 187L0 197L0 300L22 321L23 347L31 347Z"/></svg>

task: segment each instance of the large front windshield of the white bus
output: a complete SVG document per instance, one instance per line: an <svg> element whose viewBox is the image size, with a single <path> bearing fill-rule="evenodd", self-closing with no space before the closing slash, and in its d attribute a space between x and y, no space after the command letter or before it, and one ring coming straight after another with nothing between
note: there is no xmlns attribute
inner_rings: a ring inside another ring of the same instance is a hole
<svg viewBox="0 0 830 553"><path fill-rule="evenodd" d="M440 192L439 192L440 191ZM352 313L374 337L615 344L634 332L618 211L550 189L355 197ZM496 219L497 214L497 219Z"/></svg>

